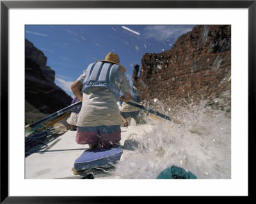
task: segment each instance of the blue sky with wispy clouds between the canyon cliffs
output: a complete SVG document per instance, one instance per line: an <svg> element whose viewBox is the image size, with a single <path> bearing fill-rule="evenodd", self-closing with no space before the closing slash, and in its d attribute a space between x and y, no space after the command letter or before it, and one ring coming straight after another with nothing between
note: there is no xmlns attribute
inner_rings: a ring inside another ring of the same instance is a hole
<svg viewBox="0 0 256 204"><path fill-rule="evenodd" d="M193 25L26 25L25 37L47 57L55 83L68 95L72 82L90 63L115 52L131 81L133 66L143 54L172 48Z"/></svg>

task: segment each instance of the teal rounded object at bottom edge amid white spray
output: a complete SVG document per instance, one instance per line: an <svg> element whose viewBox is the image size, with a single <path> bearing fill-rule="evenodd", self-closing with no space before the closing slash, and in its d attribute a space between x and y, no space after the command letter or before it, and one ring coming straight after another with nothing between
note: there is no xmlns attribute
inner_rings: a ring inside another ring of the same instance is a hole
<svg viewBox="0 0 256 204"><path fill-rule="evenodd" d="M171 166L159 173L157 179L197 179L197 177L183 168Z"/></svg>

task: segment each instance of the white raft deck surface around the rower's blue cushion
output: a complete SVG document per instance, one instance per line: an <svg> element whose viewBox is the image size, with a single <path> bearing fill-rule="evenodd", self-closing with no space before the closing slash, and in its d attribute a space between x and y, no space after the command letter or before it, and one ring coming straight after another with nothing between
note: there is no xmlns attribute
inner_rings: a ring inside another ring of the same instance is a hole
<svg viewBox="0 0 256 204"><path fill-rule="evenodd" d="M145 128L145 126L148 126ZM132 134L140 134L145 130L152 130L152 126L143 125L122 127L122 140L120 145L124 145L125 139ZM65 134L57 137L44 150L38 150L25 158L25 178L26 179L54 179L75 176L72 168L74 161L79 157L88 145L78 145L76 143L76 131L68 130ZM123 153L123 155L125 152ZM122 159L122 157L121 157Z"/></svg>

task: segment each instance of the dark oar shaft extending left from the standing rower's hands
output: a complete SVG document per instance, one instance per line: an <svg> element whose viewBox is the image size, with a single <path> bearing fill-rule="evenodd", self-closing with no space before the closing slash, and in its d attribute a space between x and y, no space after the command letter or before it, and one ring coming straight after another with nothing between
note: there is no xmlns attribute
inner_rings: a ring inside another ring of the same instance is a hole
<svg viewBox="0 0 256 204"><path fill-rule="evenodd" d="M28 125L25 126L25 130L33 129L33 128L36 127L36 125L44 123L44 122L46 122L48 120L51 120L53 118L56 118L56 117L60 116L63 113L67 113L67 111L69 111L70 109L73 109L74 107L79 106L79 104L81 104L81 101L76 102L75 104L72 104L68 107L65 107L65 108L61 109L60 111L57 111L56 113L52 113L49 116L47 116L45 118L42 118L41 120L36 121L35 123L28 124Z"/></svg>

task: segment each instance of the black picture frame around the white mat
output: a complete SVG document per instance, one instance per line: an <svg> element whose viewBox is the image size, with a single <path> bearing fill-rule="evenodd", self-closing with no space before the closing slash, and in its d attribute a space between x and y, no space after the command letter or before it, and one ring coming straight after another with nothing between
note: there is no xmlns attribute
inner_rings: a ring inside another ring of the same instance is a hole
<svg viewBox="0 0 256 204"><path fill-rule="evenodd" d="M119 203L118 196L9 196L8 11L10 8L248 8L248 139L255 136L256 1L1 1L1 203ZM247 111L247 110L245 110ZM250 143L248 143L250 144ZM248 180L248 182L250 179ZM249 195L250 191L248 192ZM188 198L188 197L187 197ZM136 202L145 198L130 197ZM157 198L158 200L158 198ZM155 201L150 198L150 201Z"/></svg>

